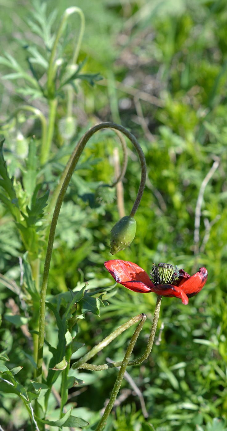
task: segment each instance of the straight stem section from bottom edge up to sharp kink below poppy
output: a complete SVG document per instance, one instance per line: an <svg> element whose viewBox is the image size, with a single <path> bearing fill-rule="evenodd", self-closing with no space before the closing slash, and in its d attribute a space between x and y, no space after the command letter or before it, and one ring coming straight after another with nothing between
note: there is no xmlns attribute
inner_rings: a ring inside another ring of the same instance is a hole
<svg viewBox="0 0 227 431"><path fill-rule="evenodd" d="M105 426L105 424L107 422L108 416L109 416L111 410L113 409L114 402L115 402L115 400L117 398L117 394L118 394L119 389L121 387L121 384L122 384L122 381L123 381L123 377L124 377L124 374L125 374L125 371L126 371L126 367L127 367L128 363L129 363L129 358L131 356L133 347L135 346L136 340L137 340L137 338L139 336L139 333L140 333L140 331L141 331L141 329L142 329L142 327L143 327L144 322L145 322L146 319L147 319L147 316L146 316L146 314L144 314L141 322L138 324L138 326L137 326L134 334L132 335L132 338L131 338L130 343L129 343L129 347L126 350L125 357L124 357L124 359L123 359L123 361L121 363L121 367L120 367L120 370L119 370L119 373L118 373L118 376L117 376L117 380L116 380L116 382L114 384L114 388L113 388L112 393L110 395L110 401L107 404L107 406L105 408L105 411L104 411L104 414L103 414L100 422L98 423L98 426L95 429L95 431L101 431L104 428L104 426Z"/></svg>

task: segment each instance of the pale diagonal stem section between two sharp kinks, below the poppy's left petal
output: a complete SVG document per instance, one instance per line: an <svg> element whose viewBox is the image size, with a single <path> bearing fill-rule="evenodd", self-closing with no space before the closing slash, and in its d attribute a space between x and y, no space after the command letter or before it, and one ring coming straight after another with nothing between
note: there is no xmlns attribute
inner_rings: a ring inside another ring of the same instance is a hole
<svg viewBox="0 0 227 431"><path fill-rule="evenodd" d="M98 343L93 349L89 350L88 353L86 353L82 358L79 359L79 361L75 362L72 365L72 369L82 368L80 365L83 365L85 362L89 361L89 359L93 358L100 350L102 350L104 347L106 347L108 344L111 343L118 335L122 334L123 331L130 328L130 326L134 325L134 323L139 322L143 318L143 314L138 314L135 317L132 317L128 322L123 323L123 325L119 326L119 328L115 329L115 331L111 332L110 335L108 335L104 340L102 340L100 343Z"/></svg>

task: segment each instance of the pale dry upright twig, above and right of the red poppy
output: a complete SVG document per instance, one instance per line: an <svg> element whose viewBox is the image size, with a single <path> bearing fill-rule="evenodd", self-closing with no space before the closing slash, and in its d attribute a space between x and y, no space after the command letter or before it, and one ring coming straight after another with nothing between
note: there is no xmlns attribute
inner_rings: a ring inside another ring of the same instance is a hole
<svg viewBox="0 0 227 431"><path fill-rule="evenodd" d="M200 228L200 218L201 218L201 208L202 208L203 195L204 195L207 184L209 183L210 179L212 178L216 169L219 166L219 162L220 162L219 160L215 160L215 162L213 163L208 174L206 175L206 177L202 181L201 187L199 189L199 195L198 195L198 199L196 202L196 211L195 211L195 230L194 230L194 242L195 242L194 254L195 255L197 255L199 253L199 228Z"/></svg>

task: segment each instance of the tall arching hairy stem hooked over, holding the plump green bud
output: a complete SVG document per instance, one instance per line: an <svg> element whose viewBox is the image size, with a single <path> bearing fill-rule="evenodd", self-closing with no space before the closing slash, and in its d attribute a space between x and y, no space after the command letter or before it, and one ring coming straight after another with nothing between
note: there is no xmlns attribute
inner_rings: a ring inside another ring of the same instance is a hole
<svg viewBox="0 0 227 431"><path fill-rule="evenodd" d="M46 251L46 259L44 264L44 271L43 271L43 282L41 287L41 297L40 297L40 322L39 322L39 341L38 341L38 355L37 355L37 377L39 378L39 381L41 381L41 373L42 373L42 362L43 362L43 344L44 344L44 330L45 330L45 303L46 303L46 289L47 289L47 283L48 283L48 276L49 276L49 268L50 268L50 261L52 256L52 250L53 250L53 244L54 244L54 237L55 237L55 230L56 225L58 222L58 215L61 209L62 202L64 200L65 193L67 191L67 187L70 183L71 177L74 173L74 169L77 166L77 162L80 158L80 155L90 139L90 137L98 130L101 130L103 128L114 128L122 132L126 137L130 139L132 144L137 150L140 162L141 162L141 183L139 186L138 194L135 200L135 203L133 205L131 215L133 216L136 212L136 209L138 208L138 205L140 203L144 187L145 187L145 181L146 181L146 162L144 153L136 140L135 136L133 136L132 133L130 133L126 128L123 126L120 126L115 123L101 123L97 124L94 127L92 127L90 130L88 130L83 137L80 139L80 141L77 144L77 147L75 148L75 155L72 159L71 165L69 166L69 169L67 171L67 174L64 178L64 182L61 187L61 191L58 195L58 200L55 205L55 210L52 217L52 222L50 225L50 232L49 232L49 240L47 245L47 251Z"/></svg>

